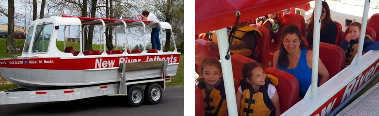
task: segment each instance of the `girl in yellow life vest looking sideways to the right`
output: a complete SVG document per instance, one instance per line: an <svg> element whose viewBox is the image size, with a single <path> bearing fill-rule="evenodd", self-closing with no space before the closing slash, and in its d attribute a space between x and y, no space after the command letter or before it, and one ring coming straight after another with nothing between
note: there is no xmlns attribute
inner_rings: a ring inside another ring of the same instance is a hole
<svg viewBox="0 0 379 116"><path fill-rule="evenodd" d="M279 95L259 63L246 63L236 95L238 116L279 116Z"/></svg>

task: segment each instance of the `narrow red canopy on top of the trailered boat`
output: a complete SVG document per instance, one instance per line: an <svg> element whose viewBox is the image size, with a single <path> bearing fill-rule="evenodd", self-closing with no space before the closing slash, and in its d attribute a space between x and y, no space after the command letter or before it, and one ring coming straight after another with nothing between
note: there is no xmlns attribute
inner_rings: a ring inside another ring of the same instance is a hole
<svg viewBox="0 0 379 116"><path fill-rule="evenodd" d="M117 20L123 20L123 21L125 21L125 23L131 23L131 22L136 22L136 21L142 21L144 23L152 23L153 22L153 21L144 21L144 20L112 19L112 18L91 18L91 17L79 17L79 16L70 16L70 15L62 15L61 17L76 17L76 18L79 18L80 21L81 21L81 23L83 23L83 25L87 24L87 23L85 23L86 21L97 20L97 19L102 19L104 21L104 23L113 22L113 21L117 21ZM99 23L97 25L101 25L101 23Z"/></svg>

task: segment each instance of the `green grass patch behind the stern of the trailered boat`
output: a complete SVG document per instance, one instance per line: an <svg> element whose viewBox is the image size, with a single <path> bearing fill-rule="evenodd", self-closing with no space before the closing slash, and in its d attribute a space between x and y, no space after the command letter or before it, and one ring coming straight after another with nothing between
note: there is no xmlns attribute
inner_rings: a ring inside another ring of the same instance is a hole
<svg viewBox="0 0 379 116"><path fill-rule="evenodd" d="M176 76L171 76L171 82L166 83L167 86L183 86L184 83L184 78L183 78L183 60L184 56L183 54L180 55L180 60L179 60L179 66L178 66L178 71L176 72Z"/></svg>

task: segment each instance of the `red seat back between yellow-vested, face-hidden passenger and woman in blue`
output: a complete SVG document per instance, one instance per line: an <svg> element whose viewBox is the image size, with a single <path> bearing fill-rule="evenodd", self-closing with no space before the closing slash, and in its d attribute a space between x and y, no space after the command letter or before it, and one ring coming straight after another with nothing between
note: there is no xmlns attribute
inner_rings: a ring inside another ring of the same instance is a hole
<svg viewBox="0 0 379 116"><path fill-rule="evenodd" d="M264 67L268 67L268 61L267 59L269 50L270 50L270 39L271 35L270 32L262 26L258 26L256 24L251 24L253 27L259 29L260 32L262 32L262 37L258 38L258 46L255 49L255 52L258 53L258 60L262 63Z"/></svg>

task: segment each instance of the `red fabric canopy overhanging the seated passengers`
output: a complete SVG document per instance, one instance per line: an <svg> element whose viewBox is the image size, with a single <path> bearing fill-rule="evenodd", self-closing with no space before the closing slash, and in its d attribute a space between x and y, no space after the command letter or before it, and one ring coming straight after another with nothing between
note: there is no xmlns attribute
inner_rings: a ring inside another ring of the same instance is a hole
<svg viewBox="0 0 379 116"><path fill-rule="evenodd" d="M218 30L312 0L195 0L195 34Z"/></svg>

